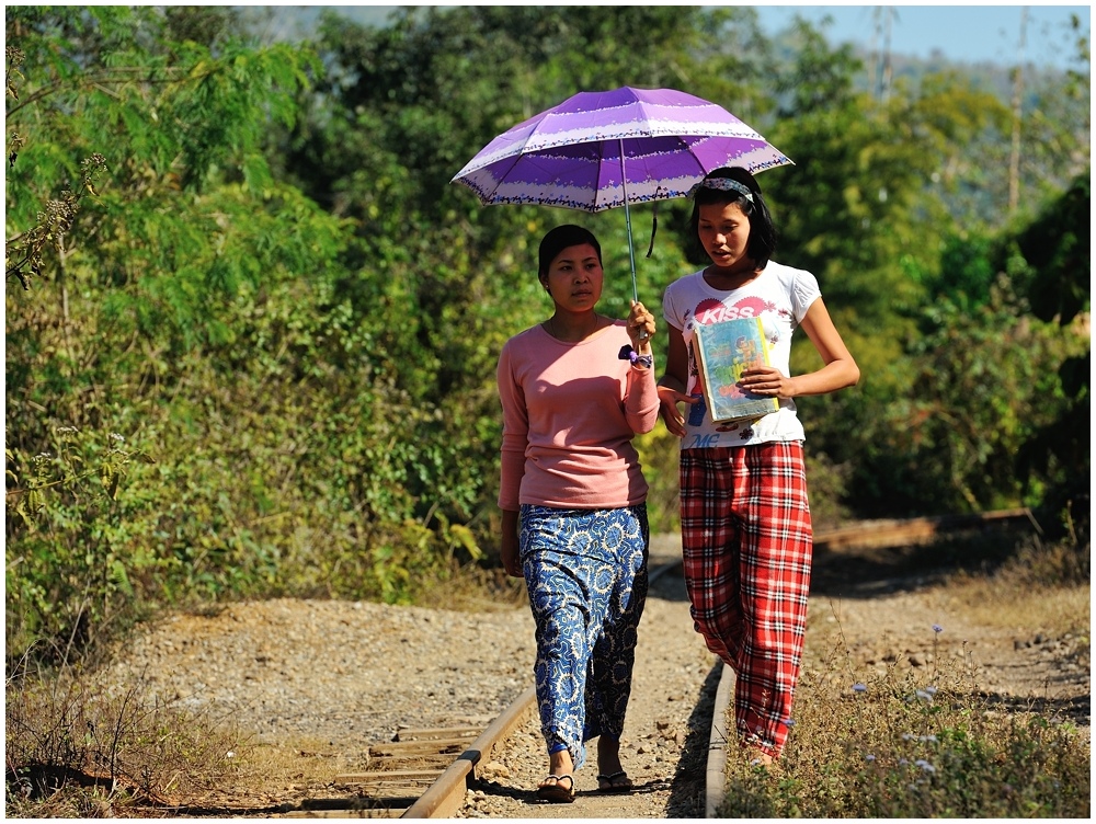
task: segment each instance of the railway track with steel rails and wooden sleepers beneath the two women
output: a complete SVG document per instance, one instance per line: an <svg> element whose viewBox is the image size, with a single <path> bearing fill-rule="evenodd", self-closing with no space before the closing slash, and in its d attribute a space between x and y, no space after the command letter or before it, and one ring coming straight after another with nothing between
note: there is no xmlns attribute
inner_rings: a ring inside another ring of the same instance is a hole
<svg viewBox="0 0 1096 824"><path fill-rule="evenodd" d="M1011 510L973 516L914 518L876 522L847 529L820 533L815 545L827 549L878 549L913 546L947 533L986 529L1029 520L1027 510ZM652 583L661 575L680 570L681 560L653 566ZM717 662L718 663L718 662ZM704 782L704 814L716 817L724 798L727 742L731 740L727 710L733 698L734 676L722 666L715 701L707 716L709 733ZM486 729L401 729L393 741L369 748L369 769L338 776L331 798L312 798L284 817L454 817L466 794L477 783L477 767L491 760L495 751L526 723L536 710L536 693L530 686ZM551 817L568 817L557 808Z"/></svg>

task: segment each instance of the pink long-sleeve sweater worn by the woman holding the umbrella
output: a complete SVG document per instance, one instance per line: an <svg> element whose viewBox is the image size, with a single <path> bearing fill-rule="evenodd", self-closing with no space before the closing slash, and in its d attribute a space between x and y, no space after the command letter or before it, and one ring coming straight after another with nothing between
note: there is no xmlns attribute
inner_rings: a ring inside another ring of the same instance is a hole
<svg viewBox="0 0 1096 824"><path fill-rule="evenodd" d="M624 321L580 343L539 324L511 337L499 357L502 485L499 506L602 510L647 500L632 445L659 420L654 369L620 359Z"/></svg>

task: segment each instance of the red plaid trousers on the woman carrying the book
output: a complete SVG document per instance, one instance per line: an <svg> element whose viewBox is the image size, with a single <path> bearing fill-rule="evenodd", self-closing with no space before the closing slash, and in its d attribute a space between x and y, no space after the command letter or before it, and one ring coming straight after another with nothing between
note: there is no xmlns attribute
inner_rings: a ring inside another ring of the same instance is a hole
<svg viewBox="0 0 1096 824"><path fill-rule="evenodd" d="M694 626L734 670L739 734L777 756L788 737L810 590L802 444L683 449L681 516Z"/></svg>

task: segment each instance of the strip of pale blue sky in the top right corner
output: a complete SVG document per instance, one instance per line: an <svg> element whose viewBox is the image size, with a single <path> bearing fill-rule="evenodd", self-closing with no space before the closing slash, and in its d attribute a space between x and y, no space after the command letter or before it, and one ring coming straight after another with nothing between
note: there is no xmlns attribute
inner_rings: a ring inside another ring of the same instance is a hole
<svg viewBox="0 0 1096 824"><path fill-rule="evenodd" d="M1025 9L1024 59L1036 65L1065 68L1075 57L1076 48L1066 28L1071 14L1081 19L1086 36L1092 26L1091 5L757 4L762 25L769 35L787 26L796 13L814 24L829 14L833 25L825 32L832 44L853 42L869 48L882 45L882 37L876 36L876 21L877 12L883 9L892 12L890 43L893 54L928 58L938 50L951 60L967 62L1015 62Z"/></svg>

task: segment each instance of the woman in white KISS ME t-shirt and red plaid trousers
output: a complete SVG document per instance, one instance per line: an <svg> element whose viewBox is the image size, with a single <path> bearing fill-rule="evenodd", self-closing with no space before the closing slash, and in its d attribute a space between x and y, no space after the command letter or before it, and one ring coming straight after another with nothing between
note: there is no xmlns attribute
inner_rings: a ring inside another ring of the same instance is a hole
<svg viewBox="0 0 1096 824"><path fill-rule="evenodd" d="M814 275L770 260L776 229L753 175L718 169L690 196L692 234L711 263L663 296L670 348L659 399L666 428L682 439L682 548L694 626L734 670L740 741L768 765L788 736L813 539L803 427L792 399L854 386L860 373ZM704 398L694 332L742 317L761 319L769 365L746 368L737 387L776 398L779 408L717 423ZM792 377L798 327L823 366Z"/></svg>

